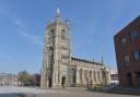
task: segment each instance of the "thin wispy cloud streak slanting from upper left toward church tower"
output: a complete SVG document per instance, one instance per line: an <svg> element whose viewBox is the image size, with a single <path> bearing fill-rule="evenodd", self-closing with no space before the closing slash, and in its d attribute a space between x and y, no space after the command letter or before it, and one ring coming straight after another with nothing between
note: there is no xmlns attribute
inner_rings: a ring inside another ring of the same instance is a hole
<svg viewBox="0 0 140 97"><path fill-rule="evenodd" d="M42 46L42 40L37 35L33 35L27 31L27 27L23 23L23 21L11 11L10 5L0 7L0 16L8 17L10 22L15 26L16 33L26 39L28 39L33 44L37 44Z"/></svg>

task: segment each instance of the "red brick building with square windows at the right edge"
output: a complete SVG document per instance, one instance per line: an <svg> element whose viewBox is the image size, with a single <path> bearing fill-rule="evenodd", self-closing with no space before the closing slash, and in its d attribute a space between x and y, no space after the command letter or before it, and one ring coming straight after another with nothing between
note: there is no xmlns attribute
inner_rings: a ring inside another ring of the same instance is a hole
<svg viewBox="0 0 140 97"><path fill-rule="evenodd" d="M119 83L140 87L140 16L114 36Z"/></svg>

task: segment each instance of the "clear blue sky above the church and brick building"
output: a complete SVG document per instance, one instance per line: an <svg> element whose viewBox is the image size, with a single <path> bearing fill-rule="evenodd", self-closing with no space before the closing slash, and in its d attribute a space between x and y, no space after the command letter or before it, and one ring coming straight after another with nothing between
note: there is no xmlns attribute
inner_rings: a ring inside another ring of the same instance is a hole
<svg viewBox="0 0 140 97"><path fill-rule="evenodd" d="M0 72L39 72L58 7L70 19L71 54L116 66L114 35L140 15L140 0L0 0Z"/></svg>

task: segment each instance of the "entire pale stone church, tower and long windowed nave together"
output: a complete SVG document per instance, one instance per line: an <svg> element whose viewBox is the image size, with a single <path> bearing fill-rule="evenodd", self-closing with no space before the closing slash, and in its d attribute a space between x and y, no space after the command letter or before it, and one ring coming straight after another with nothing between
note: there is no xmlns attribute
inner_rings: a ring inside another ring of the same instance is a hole
<svg viewBox="0 0 140 97"><path fill-rule="evenodd" d="M61 20L57 9L55 21L47 24L44 40L42 87L107 85L109 71L104 62L70 56L70 20Z"/></svg>

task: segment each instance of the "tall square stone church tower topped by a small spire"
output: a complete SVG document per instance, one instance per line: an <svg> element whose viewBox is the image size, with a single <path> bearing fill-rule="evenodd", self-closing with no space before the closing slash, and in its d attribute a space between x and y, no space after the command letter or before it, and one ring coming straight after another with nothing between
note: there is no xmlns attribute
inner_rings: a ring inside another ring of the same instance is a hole
<svg viewBox="0 0 140 97"><path fill-rule="evenodd" d="M55 22L47 24L42 69L42 87L69 86L70 22L63 23L57 9Z"/></svg>

